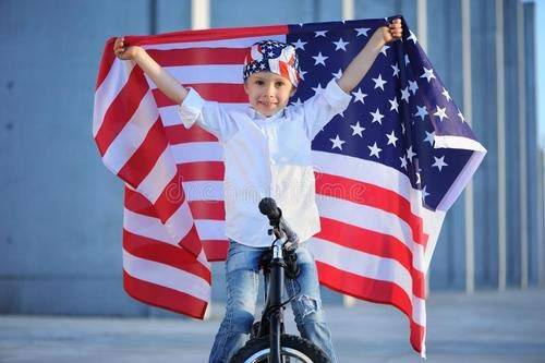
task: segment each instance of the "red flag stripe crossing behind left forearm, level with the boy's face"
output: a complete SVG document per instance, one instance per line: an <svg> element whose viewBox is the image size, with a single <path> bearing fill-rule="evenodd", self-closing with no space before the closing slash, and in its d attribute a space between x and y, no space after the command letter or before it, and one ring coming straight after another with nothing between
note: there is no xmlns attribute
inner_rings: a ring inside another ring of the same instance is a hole
<svg viewBox="0 0 545 363"><path fill-rule="evenodd" d="M184 87L194 88L206 100L227 104L247 104L242 83L195 83L184 84ZM154 88L153 94L157 107L175 106L175 102L165 96L159 88Z"/></svg>

